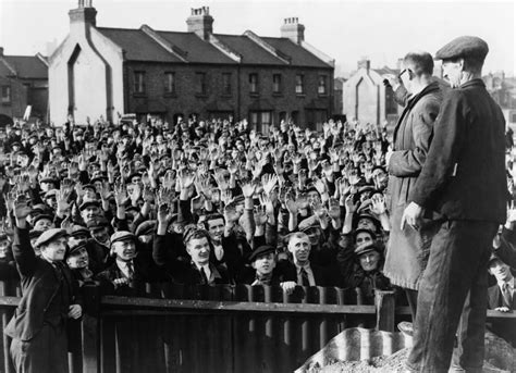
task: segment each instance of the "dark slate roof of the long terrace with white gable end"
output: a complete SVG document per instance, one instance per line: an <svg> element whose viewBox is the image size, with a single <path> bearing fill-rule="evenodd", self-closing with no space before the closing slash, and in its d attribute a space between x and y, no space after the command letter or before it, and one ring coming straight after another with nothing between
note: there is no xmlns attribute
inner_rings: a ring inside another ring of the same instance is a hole
<svg viewBox="0 0 516 373"><path fill-rule="evenodd" d="M125 51L125 59L128 61L183 62L180 58L167 51L139 28L97 27L97 29L103 36L121 47ZM156 33L172 46L186 52L184 58L187 62L213 64L238 63L220 51L209 41L199 38L195 33L167 30L156 30ZM245 35L214 34L214 37L229 47L233 52L239 54L242 57L242 64L285 65L283 60L277 58L273 53L267 51ZM282 54L287 55L291 59L290 65L304 67L331 67L330 64L320 60L315 54L287 38L263 37L261 39L279 50Z"/></svg>

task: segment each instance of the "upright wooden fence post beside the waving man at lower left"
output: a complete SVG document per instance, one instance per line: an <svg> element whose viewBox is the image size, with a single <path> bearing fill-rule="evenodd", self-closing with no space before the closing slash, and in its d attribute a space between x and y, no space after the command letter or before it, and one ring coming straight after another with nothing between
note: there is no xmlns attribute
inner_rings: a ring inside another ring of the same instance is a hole
<svg viewBox="0 0 516 373"><path fill-rule="evenodd" d="M84 286L83 372L100 372L100 287Z"/></svg>

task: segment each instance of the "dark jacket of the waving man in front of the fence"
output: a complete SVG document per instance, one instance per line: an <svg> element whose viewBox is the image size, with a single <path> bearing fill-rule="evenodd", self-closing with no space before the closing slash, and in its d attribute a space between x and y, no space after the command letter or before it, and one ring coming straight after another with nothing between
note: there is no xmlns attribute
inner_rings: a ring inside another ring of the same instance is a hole
<svg viewBox="0 0 516 373"><path fill-rule="evenodd" d="M52 264L36 257L28 229L14 228L13 256L22 283L22 300L4 333L12 338L30 340L41 330L45 311L59 291L60 279ZM66 265L62 265L64 284L69 287L67 304L82 303L77 283Z"/></svg>

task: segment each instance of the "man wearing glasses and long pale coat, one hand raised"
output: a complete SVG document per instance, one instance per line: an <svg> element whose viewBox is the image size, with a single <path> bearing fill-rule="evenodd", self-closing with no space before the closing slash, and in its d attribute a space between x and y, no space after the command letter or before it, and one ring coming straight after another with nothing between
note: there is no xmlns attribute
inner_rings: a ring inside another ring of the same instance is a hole
<svg viewBox="0 0 516 373"><path fill-rule="evenodd" d="M391 235L385 257L384 274L393 285L405 289L413 320L416 318L417 290L425 270L432 224L425 222L418 231L401 227L407 197L422 169L432 137L433 123L442 102L442 90L432 77L433 59L427 52L410 52L403 59L403 70L396 77L386 75L404 110L394 128L393 150L386 154ZM409 323L400 328L411 332Z"/></svg>

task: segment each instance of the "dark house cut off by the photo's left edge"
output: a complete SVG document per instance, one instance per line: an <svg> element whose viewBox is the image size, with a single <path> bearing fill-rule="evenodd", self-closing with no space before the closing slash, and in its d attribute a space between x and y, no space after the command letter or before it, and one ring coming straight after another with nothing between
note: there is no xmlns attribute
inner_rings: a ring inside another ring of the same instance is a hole
<svg viewBox="0 0 516 373"><path fill-rule="evenodd" d="M47 59L39 53L5 55L0 47L0 125L23 117L27 105L32 105L32 120L47 119Z"/></svg>

